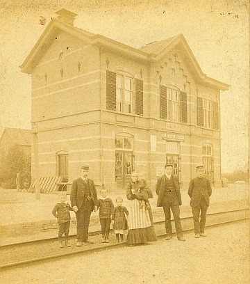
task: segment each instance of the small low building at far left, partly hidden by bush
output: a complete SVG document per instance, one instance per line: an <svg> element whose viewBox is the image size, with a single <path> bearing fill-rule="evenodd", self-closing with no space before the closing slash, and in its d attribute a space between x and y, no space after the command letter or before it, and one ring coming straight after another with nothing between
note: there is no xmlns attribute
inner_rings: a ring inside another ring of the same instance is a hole
<svg viewBox="0 0 250 284"><path fill-rule="evenodd" d="M0 138L0 162L1 158L7 155L8 150L14 145L17 145L26 155L31 156L31 143L31 129L6 127Z"/></svg>

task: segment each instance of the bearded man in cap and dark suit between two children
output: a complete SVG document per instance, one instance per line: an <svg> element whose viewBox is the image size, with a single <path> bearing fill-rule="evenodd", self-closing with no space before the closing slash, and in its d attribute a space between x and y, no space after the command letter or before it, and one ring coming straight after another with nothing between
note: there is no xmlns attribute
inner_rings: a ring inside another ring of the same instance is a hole
<svg viewBox="0 0 250 284"><path fill-rule="evenodd" d="M88 241L88 227L91 212L97 211L97 190L93 180L88 178L89 167L81 167L81 178L74 180L70 193L70 200L77 220L76 246L82 246Z"/></svg>

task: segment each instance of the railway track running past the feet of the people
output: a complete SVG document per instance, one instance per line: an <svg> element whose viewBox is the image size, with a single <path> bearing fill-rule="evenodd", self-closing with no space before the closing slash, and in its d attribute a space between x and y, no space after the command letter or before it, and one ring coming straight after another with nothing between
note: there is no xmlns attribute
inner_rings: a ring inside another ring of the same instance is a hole
<svg viewBox="0 0 250 284"><path fill-rule="evenodd" d="M221 226L226 223L233 223L246 219L249 219L248 208L210 213L207 215L206 228L211 226ZM174 221L172 222L174 223ZM164 223L164 220L154 222L158 238L165 236ZM190 232L193 230L192 216L181 218L181 223L183 232ZM110 243L100 244L99 241L101 236L99 234L100 231L92 232L91 235L94 244L86 244L81 247L76 247L75 244L72 244L71 248L58 248L57 237L0 246L0 269L11 269L20 265L32 265L56 258L65 258L66 256L72 257L79 253L92 253L126 245L126 243L115 243L115 235L112 234L112 232L110 232ZM72 235L71 239L73 238L75 239L76 235Z"/></svg>

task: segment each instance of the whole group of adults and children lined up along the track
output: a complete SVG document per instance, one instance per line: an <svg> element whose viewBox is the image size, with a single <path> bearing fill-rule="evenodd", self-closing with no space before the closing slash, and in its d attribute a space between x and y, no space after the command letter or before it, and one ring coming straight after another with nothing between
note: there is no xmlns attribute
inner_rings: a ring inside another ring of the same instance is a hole
<svg viewBox="0 0 250 284"><path fill-rule="evenodd" d="M172 175L172 164L165 164L165 173L158 178L156 194L158 195L157 206L163 207L165 213L166 239L172 239L171 212L174 216L176 235L179 241L185 241L180 219L181 191L178 178ZM81 167L81 177L74 180L70 194L71 206L66 203L67 196L60 192L60 203L53 208L52 214L58 219L59 224L59 245L63 247L63 234L65 235L65 246L71 246L68 242L70 213L76 214L77 221L77 242L76 246L92 242L88 239L88 228L92 211L99 210L101 224L101 242L109 242L110 224L112 220L113 229L117 242L124 241L124 230L128 229L127 243L130 246L135 244L148 244L156 241L156 232L153 228L153 216L149 198L153 194L147 186L146 180L137 172L131 173L131 182L126 188L126 198L129 200L128 210L122 206L121 196L116 198L116 207L108 196L108 190L103 186L100 191L100 198L97 198L97 190L93 180L88 178L89 167ZM209 198L212 189L209 180L204 176L203 166L197 166L197 178L190 182L188 195L192 207L194 234L196 238L206 237L205 224L206 213L209 206ZM200 221L199 221L200 218Z"/></svg>

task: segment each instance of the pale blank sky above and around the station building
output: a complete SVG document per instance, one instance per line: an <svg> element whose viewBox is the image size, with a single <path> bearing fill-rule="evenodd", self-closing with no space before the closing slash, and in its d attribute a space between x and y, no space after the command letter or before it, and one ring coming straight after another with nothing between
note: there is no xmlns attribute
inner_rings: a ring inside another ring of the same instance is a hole
<svg viewBox="0 0 250 284"><path fill-rule="evenodd" d="M77 27L136 48L183 33L203 72L231 85L221 95L222 172L247 170L248 5L244 0L0 0L0 134L4 127L31 128L31 77L19 65L55 12L65 8L78 14Z"/></svg>

